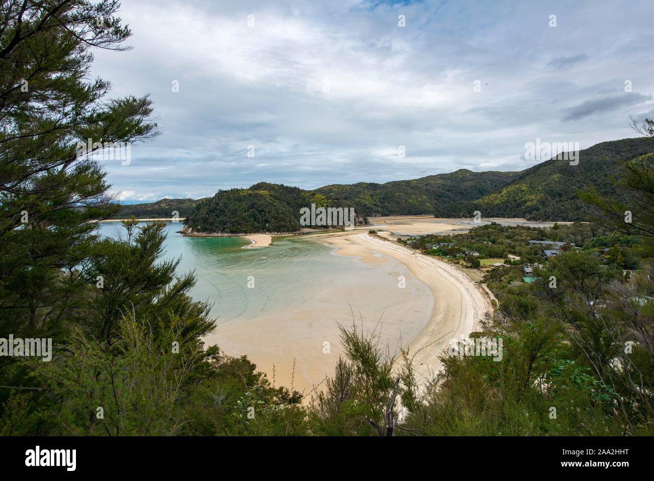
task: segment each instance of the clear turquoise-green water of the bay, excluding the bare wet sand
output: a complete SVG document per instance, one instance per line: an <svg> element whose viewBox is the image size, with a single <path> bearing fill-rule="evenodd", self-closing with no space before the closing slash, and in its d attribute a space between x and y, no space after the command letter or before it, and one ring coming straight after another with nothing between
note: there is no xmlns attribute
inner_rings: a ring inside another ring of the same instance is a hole
<svg viewBox="0 0 654 481"><path fill-rule="evenodd" d="M167 222L164 256L182 258L179 273L195 271L198 282L191 295L213 303L211 314L218 323L300 308L311 293L335 286L344 298L334 303L342 308L350 302L356 310L357 299L347 299L347 293L370 286L372 295L386 285L391 295L380 308L388 309L399 302L393 299L398 291L396 276L390 274L411 276L392 258L383 268L371 266L356 257L336 256L334 248L303 236L275 237L269 247L244 249L247 239L184 237L177 232L181 227L181 223ZM116 222L100 225L101 235L116 237L121 231L124 228ZM254 289L248 288L249 278L254 280ZM429 296L424 288L424 295Z"/></svg>

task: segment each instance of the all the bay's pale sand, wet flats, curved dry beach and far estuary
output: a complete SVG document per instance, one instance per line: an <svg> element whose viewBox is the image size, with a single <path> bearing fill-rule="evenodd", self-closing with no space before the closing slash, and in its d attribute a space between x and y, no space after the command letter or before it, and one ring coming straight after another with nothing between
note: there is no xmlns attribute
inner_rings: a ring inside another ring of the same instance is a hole
<svg viewBox="0 0 654 481"><path fill-rule="evenodd" d="M553 222L528 222L525 219L485 218L481 224L551 226ZM207 337L230 355L247 354L258 369L273 378L277 386L292 386L305 394L334 373L342 354L338 324L351 325L354 319L367 331L381 322L381 345L399 354L409 347L415 354L417 374L427 376L440 369L439 355L449 340L467 337L479 329L479 321L492 313L489 291L454 265L424 256L393 242L404 235L430 233L453 234L479 226L472 219L438 219L430 216L392 216L371 218L371 225L351 231L324 233L313 231L300 239L317 240L334 248L334 255L352 257L379 269L370 284L351 286L349 290L329 288L307 292L306 302L283 312L262 312L256 318L218 323ZM380 227L382 229L380 229ZM380 237L369 235L376 230ZM270 245L269 235L249 235L250 246ZM274 255L274 250L270 251ZM398 269L389 269L391 261L405 270L405 288L398 287ZM399 263L399 264L397 264ZM317 274L320 275L319 273ZM387 297L402 293L400 301ZM429 295L431 293L431 295ZM330 345L323 352L324 342Z"/></svg>

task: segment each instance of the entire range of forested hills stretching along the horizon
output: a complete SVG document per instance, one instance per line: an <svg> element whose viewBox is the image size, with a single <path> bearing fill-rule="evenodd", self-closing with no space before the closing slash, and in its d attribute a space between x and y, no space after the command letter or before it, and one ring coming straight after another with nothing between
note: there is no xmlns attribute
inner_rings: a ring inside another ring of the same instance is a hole
<svg viewBox="0 0 654 481"><path fill-rule="evenodd" d="M363 216L434 214L436 217L458 218L472 217L475 210L479 210L484 217L588 220L589 213L577 197L579 191L595 188L600 195L613 195L612 180L621 164L651 152L654 152L654 140L643 137L602 142L581 150L578 165L570 165L559 154L557 158L521 172L459 169L449 174L385 184L332 184L313 191L262 182L249 189L220 191L216 193L218 197L196 201L162 199L152 204L124 206L114 217L171 217L173 210L177 210L180 217L187 217L196 206L204 203L193 214L196 223L210 225L210 219L223 218L218 225L226 227L229 224L226 216L237 216L241 219L232 221L232 224L239 227L269 224L269 227L279 227L280 231L295 231L298 226L294 218L283 213L284 208L278 201L284 199L282 204L296 212L298 206L311 203L311 199L317 205L329 199L338 205L354 207ZM619 192L615 194L619 195ZM271 205L264 205L266 199ZM237 206L241 209L239 212L232 209ZM210 208L218 210L209 214L207 209ZM261 212L265 213L264 217ZM297 216L294 214L294 217Z"/></svg>

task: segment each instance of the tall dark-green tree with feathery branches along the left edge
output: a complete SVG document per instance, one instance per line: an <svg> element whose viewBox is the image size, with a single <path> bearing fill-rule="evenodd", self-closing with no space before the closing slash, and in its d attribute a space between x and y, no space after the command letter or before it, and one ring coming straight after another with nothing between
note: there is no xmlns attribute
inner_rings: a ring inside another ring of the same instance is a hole
<svg viewBox="0 0 654 481"><path fill-rule="evenodd" d="M96 229L88 221L118 208L94 156L105 142L158 133L147 95L105 99L109 83L88 78L93 48L128 48L119 6L46 0L0 9L0 333L61 328L86 282Z"/></svg>

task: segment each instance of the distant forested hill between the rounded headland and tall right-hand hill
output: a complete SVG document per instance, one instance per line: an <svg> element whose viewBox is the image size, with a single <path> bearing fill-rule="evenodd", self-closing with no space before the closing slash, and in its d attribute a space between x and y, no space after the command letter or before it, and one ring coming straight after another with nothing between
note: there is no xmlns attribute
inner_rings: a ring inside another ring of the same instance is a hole
<svg viewBox="0 0 654 481"><path fill-rule="evenodd" d="M351 201L360 206L368 216L433 214L440 205L479 199L497 191L518 174L459 169L449 174L395 180L385 184L334 184L315 191L328 197Z"/></svg>

